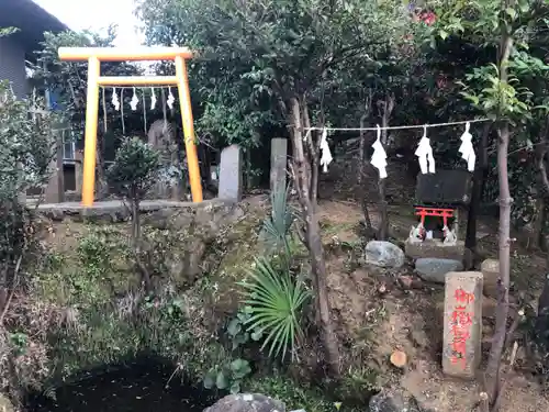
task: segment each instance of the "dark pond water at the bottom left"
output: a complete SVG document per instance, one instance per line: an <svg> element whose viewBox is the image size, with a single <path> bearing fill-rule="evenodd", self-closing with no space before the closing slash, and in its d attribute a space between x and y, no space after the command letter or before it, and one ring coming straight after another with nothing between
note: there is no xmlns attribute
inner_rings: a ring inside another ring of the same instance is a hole
<svg viewBox="0 0 549 412"><path fill-rule="evenodd" d="M200 383L172 376L175 370L175 365L155 358L90 370L57 388L55 401L43 393L29 396L26 411L202 412L219 399Z"/></svg>

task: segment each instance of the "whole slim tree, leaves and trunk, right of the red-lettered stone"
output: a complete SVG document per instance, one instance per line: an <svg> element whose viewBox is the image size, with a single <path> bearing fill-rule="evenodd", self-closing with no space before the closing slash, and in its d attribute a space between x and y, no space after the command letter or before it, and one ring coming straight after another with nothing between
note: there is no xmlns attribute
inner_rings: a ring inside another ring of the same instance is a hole
<svg viewBox="0 0 549 412"><path fill-rule="evenodd" d="M497 177L500 202L500 297L495 335L486 367L484 388L492 411L497 411L502 397L500 368L506 344L508 313L509 249L512 191L508 176L508 147L514 130L527 127L533 120L535 91L529 89L528 78L546 78L549 70L540 58L530 53L529 41L536 35L533 27L547 24L549 8L542 1L435 1L441 16L433 26L434 36L447 38L460 34L480 43L492 56L492 63L475 67L466 76L462 94L484 115L497 124ZM540 88L545 92L546 88ZM544 108L545 109L545 108ZM508 342L507 342L508 345Z"/></svg>

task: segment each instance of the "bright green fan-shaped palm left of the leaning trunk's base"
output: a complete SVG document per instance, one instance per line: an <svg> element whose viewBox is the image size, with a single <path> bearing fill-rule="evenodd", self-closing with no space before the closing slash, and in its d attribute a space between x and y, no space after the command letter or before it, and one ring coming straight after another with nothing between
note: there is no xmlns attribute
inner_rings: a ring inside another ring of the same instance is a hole
<svg viewBox="0 0 549 412"><path fill-rule="evenodd" d="M244 288L248 332L265 336L261 350L269 346L269 357L285 357L288 350L295 358L296 344L303 337L301 312L310 298L305 283L284 270L277 270L266 258L255 261L250 280L240 282Z"/></svg>

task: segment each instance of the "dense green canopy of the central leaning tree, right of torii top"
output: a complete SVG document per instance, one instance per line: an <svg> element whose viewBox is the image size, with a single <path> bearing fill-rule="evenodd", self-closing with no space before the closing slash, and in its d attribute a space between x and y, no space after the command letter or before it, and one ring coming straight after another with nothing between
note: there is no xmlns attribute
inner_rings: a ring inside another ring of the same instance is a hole
<svg viewBox="0 0 549 412"><path fill-rule="evenodd" d="M199 123L244 145L251 132L287 124L285 99L340 87L343 73L413 32L399 1L147 1L138 13L149 43L200 53L191 76L204 102Z"/></svg>

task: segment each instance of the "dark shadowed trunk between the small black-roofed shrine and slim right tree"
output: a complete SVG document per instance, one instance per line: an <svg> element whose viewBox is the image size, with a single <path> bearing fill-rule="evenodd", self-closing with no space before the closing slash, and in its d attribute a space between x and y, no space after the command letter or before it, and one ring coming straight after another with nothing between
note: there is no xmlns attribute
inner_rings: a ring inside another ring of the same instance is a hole
<svg viewBox="0 0 549 412"><path fill-rule="evenodd" d="M478 255L477 220L479 216L482 194L484 192L484 182L486 181L488 177L488 146L491 130L492 123L486 123L482 131L482 136L478 149L478 153L480 153L480 162L478 167L474 169L471 201L469 202L469 210L467 214L466 250L463 254L463 263L466 269L470 269L472 267L473 259L471 258L471 255L472 257L475 257Z"/></svg>

